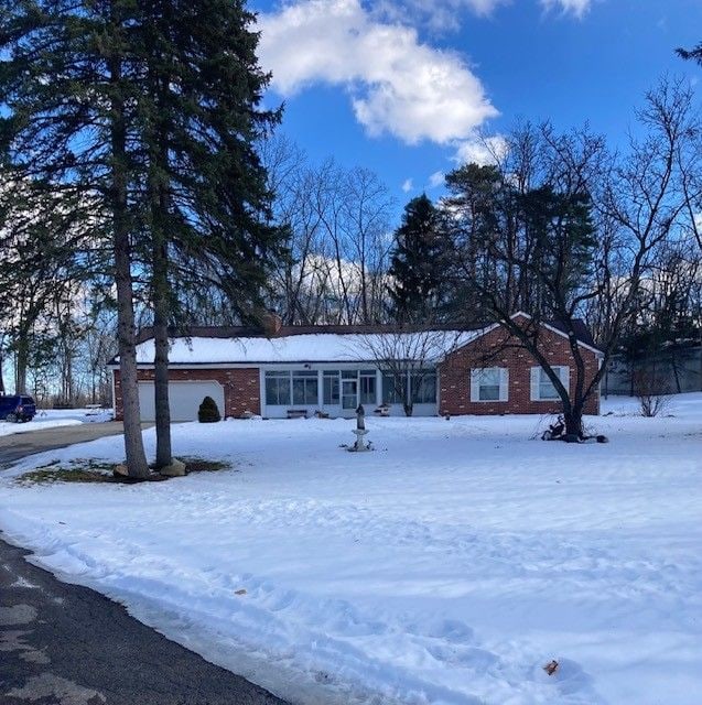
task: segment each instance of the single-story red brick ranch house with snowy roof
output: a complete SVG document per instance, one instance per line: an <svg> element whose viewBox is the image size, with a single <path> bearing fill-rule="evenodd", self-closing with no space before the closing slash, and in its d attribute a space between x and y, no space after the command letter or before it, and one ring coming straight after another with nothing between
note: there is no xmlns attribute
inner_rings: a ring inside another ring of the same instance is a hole
<svg viewBox="0 0 702 705"><path fill-rule="evenodd" d="M529 321L522 313L514 316L520 317ZM574 384L568 336L557 324L539 325L544 355L561 380ZM592 379L602 354L582 323L575 332L586 377ZM505 345L507 338L497 324L414 333L398 333L390 326L193 327L171 341L171 419L195 420L206 395L225 417L353 416L358 404L368 413L402 415L399 387L411 394L413 414L421 416L558 412L553 384L523 348L511 341ZM137 347L144 421L154 417L153 351L147 329ZM390 355L403 361L389 364ZM115 415L121 419L118 360L110 367ZM407 383L399 386L402 375ZM598 412L597 393L586 413Z"/></svg>

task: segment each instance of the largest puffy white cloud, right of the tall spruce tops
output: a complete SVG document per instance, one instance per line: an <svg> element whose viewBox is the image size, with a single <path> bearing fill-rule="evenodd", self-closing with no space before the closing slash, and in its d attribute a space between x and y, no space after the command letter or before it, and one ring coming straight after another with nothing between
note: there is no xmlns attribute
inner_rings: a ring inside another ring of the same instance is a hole
<svg viewBox="0 0 702 705"><path fill-rule="evenodd" d="M458 54L378 21L359 0L301 0L261 14L259 29L261 65L273 72L276 90L293 96L316 83L343 86L371 135L444 144L497 116Z"/></svg>

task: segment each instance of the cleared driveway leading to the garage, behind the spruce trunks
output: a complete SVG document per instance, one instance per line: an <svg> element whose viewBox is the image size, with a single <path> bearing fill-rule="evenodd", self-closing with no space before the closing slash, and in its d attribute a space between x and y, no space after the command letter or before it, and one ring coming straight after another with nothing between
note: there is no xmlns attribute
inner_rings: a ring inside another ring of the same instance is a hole
<svg viewBox="0 0 702 705"><path fill-rule="evenodd" d="M151 425L153 424L143 424L142 427L148 429ZM20 460L34 453L65 448L74 443L95 441L120 433L125 433L122 422L108 421L107 423L82 423L75 426L56 426L0 436L0 466L14 463L14 460Z"/></svg>

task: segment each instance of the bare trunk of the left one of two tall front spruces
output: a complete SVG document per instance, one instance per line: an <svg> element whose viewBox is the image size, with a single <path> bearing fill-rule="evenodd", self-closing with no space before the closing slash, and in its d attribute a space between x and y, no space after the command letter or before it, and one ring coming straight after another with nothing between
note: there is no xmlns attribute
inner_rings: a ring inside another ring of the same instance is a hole
<svg viewBox="0 0 702 705"><path fill-rule="evenodd" d="M118 58L110 59L110 78L116 94L121 72ZM121 97L112 98L112 248L115 254L115 283L117 286L117 338L119 371L125 415L125 453L129 477L145 479L149 465L141 437L139 410L139 380L137 373L137 341L134 330L133 284L131 276L131 248L127 210L127 130Z"/></svg>

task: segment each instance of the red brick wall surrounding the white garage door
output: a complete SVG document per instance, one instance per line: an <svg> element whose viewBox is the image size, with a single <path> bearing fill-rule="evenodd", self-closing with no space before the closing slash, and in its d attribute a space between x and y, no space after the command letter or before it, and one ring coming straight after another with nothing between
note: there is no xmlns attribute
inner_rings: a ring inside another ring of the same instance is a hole
<svg viewBox="0 0 702 705"><path fill-rule="evenodd" d="M224 388L226 416L240 416L245 411L261 413L261 389L258 368L169 370L170 381L209 381L219 382ZM153 370L139 370L139 381L153 381ZM119 370L115 370L115 411L116 419L122 419L122 394Z"/></svg>

